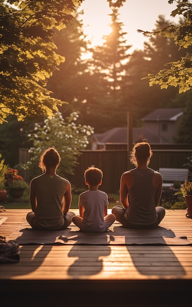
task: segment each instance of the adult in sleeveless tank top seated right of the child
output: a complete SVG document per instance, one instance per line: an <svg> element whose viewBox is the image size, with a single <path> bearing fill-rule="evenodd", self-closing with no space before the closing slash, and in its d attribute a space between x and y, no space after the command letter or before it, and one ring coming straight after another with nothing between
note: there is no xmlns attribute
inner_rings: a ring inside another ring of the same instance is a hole
<svg viewBox="0 0 192 307"><path fill-rule="evenodd" d="M159 205L163 179L148 167L152 151L149 143L133 146L130 162L136 167L123 173L120 181L120 202L112 213L126 228L156 228L165 216Z"/></svg>

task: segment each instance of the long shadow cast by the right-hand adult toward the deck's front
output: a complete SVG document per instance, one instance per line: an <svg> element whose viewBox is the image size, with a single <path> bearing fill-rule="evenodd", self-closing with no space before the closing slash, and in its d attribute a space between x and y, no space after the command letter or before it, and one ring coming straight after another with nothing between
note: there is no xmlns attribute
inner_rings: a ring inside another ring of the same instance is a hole
<svg viewBox="0 0 192 307"><path fill-rule="evenodd" d="M146 276L157 275L161 278L166 278L166 276L178 278L186 274L180 261L174 255L166 241L169 240L169 238L176 238L172 230L160 226L154 230L128 230L123 228L123 226L119 226L114 227L114 233L118 235L122 233L123 229L127 234L125 237L125 243L128 253L131 256L135 268L140 274ZM139 242L139 244L130 245L130 237L128 237L128 234L130 235L131 233L135 236L135 242ZM149 242L153 242L158 238L158 243L145 243L146 235L151 235L151 237L148 238L150 239ZM185 238L181 238L181 240L185 240ZM142 241L144 243L142 243ZM148 249L146 246L153 248Z"/></svg>

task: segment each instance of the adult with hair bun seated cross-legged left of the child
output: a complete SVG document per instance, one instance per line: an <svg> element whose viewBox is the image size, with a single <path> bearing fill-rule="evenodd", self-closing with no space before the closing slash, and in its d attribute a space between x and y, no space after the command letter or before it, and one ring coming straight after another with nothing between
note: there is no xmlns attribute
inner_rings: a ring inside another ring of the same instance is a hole
<svg viewBox="0 0 192 307"><path fill-rule="evenodd" d="M69 211L71 205L71 184L56 174L61 161L54 147L46 149L39 161L43 174L30 183L30 204L32 212L27 222L36 230L63 230L75 215Z"/></svg>

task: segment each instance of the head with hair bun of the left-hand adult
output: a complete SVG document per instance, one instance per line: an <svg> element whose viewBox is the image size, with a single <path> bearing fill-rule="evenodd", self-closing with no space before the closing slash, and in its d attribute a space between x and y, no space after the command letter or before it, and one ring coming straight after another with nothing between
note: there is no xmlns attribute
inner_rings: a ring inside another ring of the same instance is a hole
<svg viewBox="0 0 192 307"><path fill-rule="evenodd" d="M60 154L55 147L47 148L40 157L39 167L42 171L46 171L47 168L56 167L61 161Z"/></svg>

